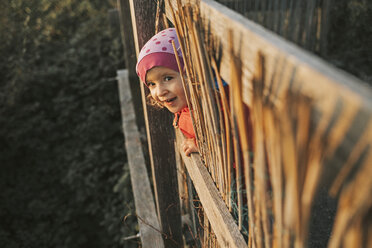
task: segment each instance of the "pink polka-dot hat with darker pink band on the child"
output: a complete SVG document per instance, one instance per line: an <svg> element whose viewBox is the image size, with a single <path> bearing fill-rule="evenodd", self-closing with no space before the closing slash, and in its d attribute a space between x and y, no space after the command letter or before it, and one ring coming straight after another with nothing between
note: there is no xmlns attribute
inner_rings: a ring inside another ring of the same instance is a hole
<svg viewBox="0 0 372 248"><path fill-rule="evenodd" d="M146 84L147 71L155 66L164 66L174 71L179 71L172 40L174 40L181 68L183 69L183 57L176 29L165 29L147 41L138 55L136 71L143 83Z"/></svg>

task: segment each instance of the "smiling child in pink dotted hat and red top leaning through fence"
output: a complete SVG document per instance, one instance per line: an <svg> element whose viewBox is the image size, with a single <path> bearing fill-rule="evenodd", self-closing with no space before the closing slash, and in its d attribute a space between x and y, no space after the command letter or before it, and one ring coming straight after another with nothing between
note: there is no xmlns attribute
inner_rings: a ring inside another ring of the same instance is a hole
<svg viewBox="0 0 372 248"><path fill-rule="evenodd" d="M178 54L174 53L172 41ZM185 135L186 140L182 148L186 156L190 156L192 152L198 152L198 148L175 56L179 57L184 71L176 30L168 28L153 36L143 46L138 55L136 71L141 81L149 88L149 97L154 105L166 107L174 113L173 125Z"/></svg>

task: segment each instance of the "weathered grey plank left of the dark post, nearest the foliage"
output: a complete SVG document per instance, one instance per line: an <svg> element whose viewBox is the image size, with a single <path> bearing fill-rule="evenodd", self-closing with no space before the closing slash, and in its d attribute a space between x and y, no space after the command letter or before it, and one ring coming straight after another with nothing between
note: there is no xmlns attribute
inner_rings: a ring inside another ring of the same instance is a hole
<svg viewBox="0 0 372 248"><path fill-rule="evenodd" d="M128 156L130 179L140 229L142 247L164 247L160 223L156 215L154 198L146 171L140 133L136 124L133 99L130 91L128 70L117 72L120 107Z"/></svg>

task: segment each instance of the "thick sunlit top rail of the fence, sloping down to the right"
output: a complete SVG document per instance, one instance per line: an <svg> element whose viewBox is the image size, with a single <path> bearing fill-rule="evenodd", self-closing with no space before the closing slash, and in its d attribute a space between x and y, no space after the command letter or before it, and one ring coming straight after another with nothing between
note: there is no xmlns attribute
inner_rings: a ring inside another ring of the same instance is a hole
<svg viewBox="0 0 372 248"><path fill-rule="evenodd" d="M195 0L182 0L184 4ZM177 10L176 1L170 1ZM227 34L232 31L235 55L242 60L244 100L251 105L251 83L258 52L266 61L266 76L273 77L279 66L294 73L293 80L301 83L301 92L318 100L319 106L329 104L329 99L340 97L353 106L364 106L372 113L372 90L354 76L336 69L319 57L308 53L275 33L244 18L242 15L212 0L200 1L200 12L206 30L221 42L221 75L230 81L230 51ZM167 17L173 21L169 2ZM279 69L282 69L279 68ZM285 87L283 87L284 90ZM324 107L324 106L323 106Z"/></svg>

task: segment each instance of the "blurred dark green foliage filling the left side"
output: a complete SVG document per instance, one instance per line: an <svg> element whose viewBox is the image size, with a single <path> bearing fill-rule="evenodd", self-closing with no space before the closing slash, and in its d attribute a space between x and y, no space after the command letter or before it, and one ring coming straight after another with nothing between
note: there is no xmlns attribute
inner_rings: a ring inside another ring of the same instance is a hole
<svg viewBox="0 0 372 248"><path fill-rule="evenodd" d="M135 234L115 3L0 2L0 247L122 247Z"/></svg>

